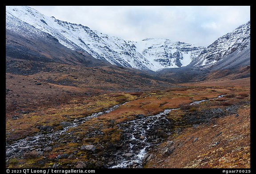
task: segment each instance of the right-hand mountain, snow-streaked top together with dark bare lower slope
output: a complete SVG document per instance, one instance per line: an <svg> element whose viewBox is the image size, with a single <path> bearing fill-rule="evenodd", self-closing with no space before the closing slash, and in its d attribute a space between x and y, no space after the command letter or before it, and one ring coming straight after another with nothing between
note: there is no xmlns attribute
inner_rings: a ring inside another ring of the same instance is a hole
<svg viewBox="0 0 256 174"><path fill-rule="evenodd" d="M250 21L221 36L185 67L165 69L161 77L180 82L250 77Z"/></svg>

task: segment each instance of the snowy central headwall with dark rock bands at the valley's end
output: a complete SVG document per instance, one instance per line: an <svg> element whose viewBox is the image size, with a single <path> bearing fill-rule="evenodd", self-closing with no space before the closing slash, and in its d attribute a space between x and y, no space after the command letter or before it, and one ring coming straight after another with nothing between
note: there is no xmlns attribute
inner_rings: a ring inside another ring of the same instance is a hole
<svg viewBox="0 0 256 174"><path fill-rule="evenodd" d="M151 62L150 69L154 70L187 66L204 49L188 43L172 42L169 39L144 39L130 43Z"/></svg>

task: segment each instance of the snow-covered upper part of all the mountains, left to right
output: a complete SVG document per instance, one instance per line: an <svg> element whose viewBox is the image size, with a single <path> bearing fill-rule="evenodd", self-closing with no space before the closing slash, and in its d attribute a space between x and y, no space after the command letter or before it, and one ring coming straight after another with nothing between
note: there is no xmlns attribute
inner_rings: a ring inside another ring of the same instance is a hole
<svg viewBox="0 0 256 174"><path fill-rule="evenodd" d="M237 48L242 49L250 44L250 21L204 48L170 39L127 41L92 31L82 24L43 15L27 6L6 6L6 28L15 32L37 32L37 29L51 35L62 45L84 51L94 58L107 60L117 66L153 71L191 63L194 66L212 65Z"/></svg>

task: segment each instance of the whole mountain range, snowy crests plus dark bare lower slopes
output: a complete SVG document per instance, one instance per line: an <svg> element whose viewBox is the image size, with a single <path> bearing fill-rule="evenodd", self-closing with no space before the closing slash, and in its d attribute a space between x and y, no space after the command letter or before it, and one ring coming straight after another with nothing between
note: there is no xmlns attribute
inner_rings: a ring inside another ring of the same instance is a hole
<svg viewBox="0 0 256 174"><path fill-rule="evenodd" d="M12 6L6 7L6 32L6 55L10 57L19 55L30 60L34 56L45 62L54 59L53 62L86 66L111 63L149 72L160 71L156 74L180 82L220 78L232 73L242 73L234 78L250 76L250 70L246 68L250 65L250 21L204 48L169 39L125 41L81 24L45 16L26 6ZM19 37L11 37L13 33ZM14 41L14 38L20 41ZM44 44L47 47L42 47L43 53L38 50L40 43L32 42L32 39L48 43ZM21 40L28 49L13 49L15 42L22 43ZM60 47L62 51L54 53ZM48 50L52 50L51 54ZM72 50L75 51L72 56L64 54ZM22 55L24 53L29 56Z"/></svg>

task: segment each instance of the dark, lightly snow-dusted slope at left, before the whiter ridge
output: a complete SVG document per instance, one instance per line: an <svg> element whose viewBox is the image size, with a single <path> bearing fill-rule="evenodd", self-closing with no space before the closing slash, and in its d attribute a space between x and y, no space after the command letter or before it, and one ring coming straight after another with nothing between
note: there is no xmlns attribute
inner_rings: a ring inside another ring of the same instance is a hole
<svg viewBox="0 0 256 174"><path fill-rule="evenodd" d="M6 12L6 57L38 62L59 62L70 65L100 66L98 60L84 50L71 50L52 35L40 31Z"/></svg>

